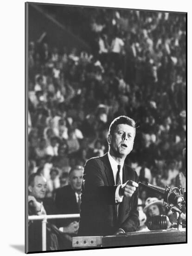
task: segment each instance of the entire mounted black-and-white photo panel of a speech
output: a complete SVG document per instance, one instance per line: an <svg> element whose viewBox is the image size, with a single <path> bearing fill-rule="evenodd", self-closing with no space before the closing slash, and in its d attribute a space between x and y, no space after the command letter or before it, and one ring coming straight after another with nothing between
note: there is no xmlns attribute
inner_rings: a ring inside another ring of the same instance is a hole
<svg viewBox="0 0 192 256"><path fill-rule="evenodd" d="M187 243L187 9L168 9L25 3L26 253Z"/></svg>

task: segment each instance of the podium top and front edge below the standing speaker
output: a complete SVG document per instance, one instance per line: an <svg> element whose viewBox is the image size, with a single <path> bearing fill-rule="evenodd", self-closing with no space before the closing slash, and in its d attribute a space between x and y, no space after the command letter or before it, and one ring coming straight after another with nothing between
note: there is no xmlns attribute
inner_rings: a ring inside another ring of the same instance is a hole
<svg viewBox="0 0 192 256"><path fill-rule="evenodd" d="M137 246L166 243L186 243L186 229L164 229L154 231L128 232L118 236L76 236L72 239L72 247L77 248L109 248L119 246Z"/></svg>

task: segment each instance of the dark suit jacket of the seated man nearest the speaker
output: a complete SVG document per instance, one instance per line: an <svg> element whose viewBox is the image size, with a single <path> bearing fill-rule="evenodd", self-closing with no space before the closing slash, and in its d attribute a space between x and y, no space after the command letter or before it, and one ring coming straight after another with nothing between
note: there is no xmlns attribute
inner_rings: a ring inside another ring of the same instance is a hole
<svg viewBox="0 0 192 256"><path fill-rule="evenodd" d="M76 214L79 213L77 199L74 190L70 185L56 189L55 204L58 210L58 214ZM61 226L67 226L70 222L79 219L66 219L62 220Z"/></svg>

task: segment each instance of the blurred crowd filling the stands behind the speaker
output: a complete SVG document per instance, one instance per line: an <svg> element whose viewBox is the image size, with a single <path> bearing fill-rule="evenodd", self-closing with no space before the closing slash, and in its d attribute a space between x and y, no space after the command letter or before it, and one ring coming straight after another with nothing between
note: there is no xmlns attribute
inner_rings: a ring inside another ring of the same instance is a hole
<svg viewBox="0 0 192 256"><path fill-rule="evenodd" d="M137 128L126 162L140 181L185 187L186 16L79 9L91 52L29 43L29 175L42 173L52 197L71 168L108 151L110 122L128 115Z"/></svg>

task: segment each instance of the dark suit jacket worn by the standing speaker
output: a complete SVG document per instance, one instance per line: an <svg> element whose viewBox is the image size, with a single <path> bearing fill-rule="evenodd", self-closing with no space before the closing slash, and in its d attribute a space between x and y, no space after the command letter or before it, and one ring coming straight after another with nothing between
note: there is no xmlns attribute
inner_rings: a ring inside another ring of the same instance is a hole
<svg viewBox="0 0 192 256"><path fill-rule="evenodd" d="M136 172L123 166L123 183L138 182ZM82 184L80 227L78 236L109 236L119 228L135 231L139 225L137 201L138 189L131 198L123 196L117 219L113 171L108 155L95 157L85 164Z"/></svg>

